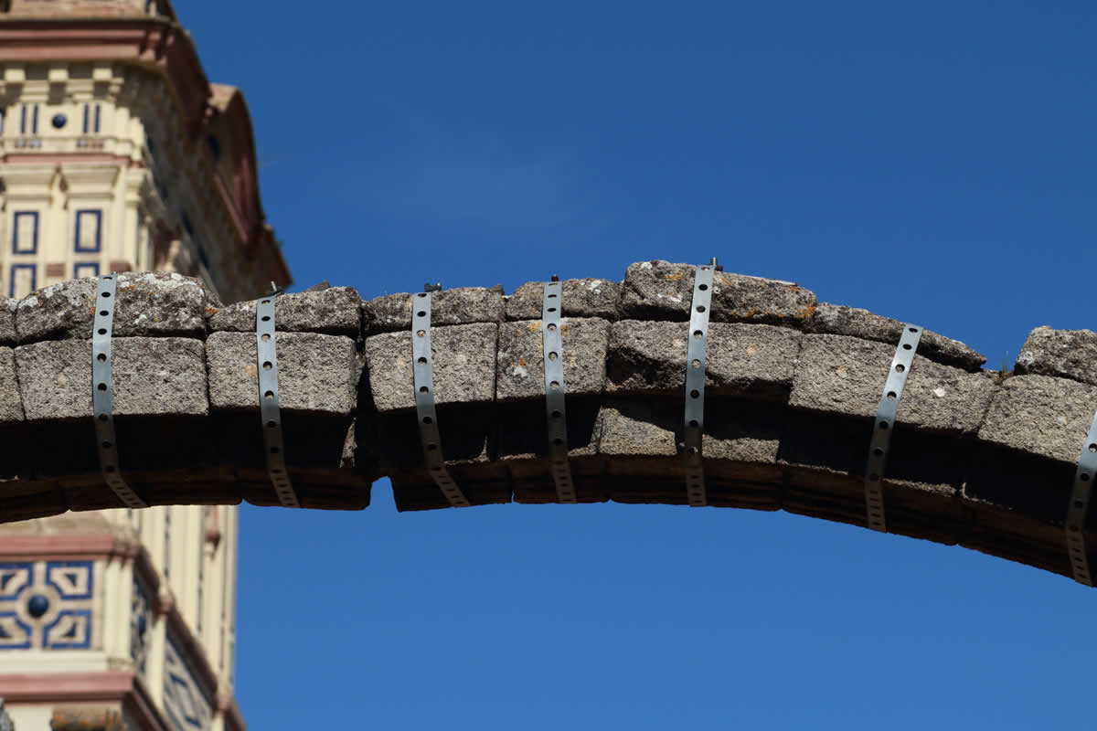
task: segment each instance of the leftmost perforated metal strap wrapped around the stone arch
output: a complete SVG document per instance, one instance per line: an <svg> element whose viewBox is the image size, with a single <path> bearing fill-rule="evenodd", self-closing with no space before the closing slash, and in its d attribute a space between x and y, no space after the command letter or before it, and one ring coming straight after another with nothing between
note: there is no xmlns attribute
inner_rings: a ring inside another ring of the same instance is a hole
<svg viewBox="0 0 1097 731"><path fill-rule="evenodd" d="M126 507L148 507L122 479L118 466L118 445L114 434L114 382L111 370L116 279L115 274L104 274L99 277L99 288L95 292L95 320L91 335L91 408L95 420L95 441L99 443L99 466L103 470L103 480Z"/></svg>

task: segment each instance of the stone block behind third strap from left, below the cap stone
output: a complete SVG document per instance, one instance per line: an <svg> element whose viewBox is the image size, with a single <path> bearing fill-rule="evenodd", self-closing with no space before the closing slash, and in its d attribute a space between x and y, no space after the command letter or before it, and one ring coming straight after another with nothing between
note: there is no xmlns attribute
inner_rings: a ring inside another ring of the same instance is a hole
<svg viewBox="0 0 1097 731"><path fill-rule="evenodd" d="M498 325L431 328L434 403L483 403L495 399ZM370 389L377 411L415 408L411 332L389 332L365 340Z"/></svg>

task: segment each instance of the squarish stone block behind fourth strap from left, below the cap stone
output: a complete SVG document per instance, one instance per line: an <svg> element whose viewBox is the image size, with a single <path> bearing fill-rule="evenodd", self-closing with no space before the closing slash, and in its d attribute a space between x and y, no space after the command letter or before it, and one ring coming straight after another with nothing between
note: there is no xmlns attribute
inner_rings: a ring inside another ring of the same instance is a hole
<svg viewBox="0 0 1097 731"><path fill-rule="evenodd" d="M541 320L499 325L498 400L544 397L543 327ZM601 393L606 384L609 322L595 318L565 318L561 323L561 339L564 392L567 396Z"/></svg>

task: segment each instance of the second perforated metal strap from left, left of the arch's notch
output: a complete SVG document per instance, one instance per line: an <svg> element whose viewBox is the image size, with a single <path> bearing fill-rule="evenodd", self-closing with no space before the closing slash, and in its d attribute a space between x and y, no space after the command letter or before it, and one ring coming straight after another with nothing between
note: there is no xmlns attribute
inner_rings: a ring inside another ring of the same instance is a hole
<svg viewBox="0 0 1097 731"><path fill-rule="evenodd" d="M301 507L285 469L282 441L282 408L278 390L278 350L274 346L274 299L271 294L256 300L256 365L259 372L259 418L262 420L267 471L283 507Z"/></svg>

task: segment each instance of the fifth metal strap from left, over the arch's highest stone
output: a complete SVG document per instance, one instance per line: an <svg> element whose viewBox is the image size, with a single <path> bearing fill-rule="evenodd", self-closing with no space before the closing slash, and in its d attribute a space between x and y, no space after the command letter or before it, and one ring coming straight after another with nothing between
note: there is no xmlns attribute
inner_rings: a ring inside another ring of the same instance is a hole
<svg viewBox="0 0 1097 731"><path fill-rule="evenodd" d="M698 266L693 275L690 307L689 346L686 349L686 494L689 504L708 504L701 448L704 435L704 372L709 345L709 310L712 307L712 277L716 260Z"/></svg>

